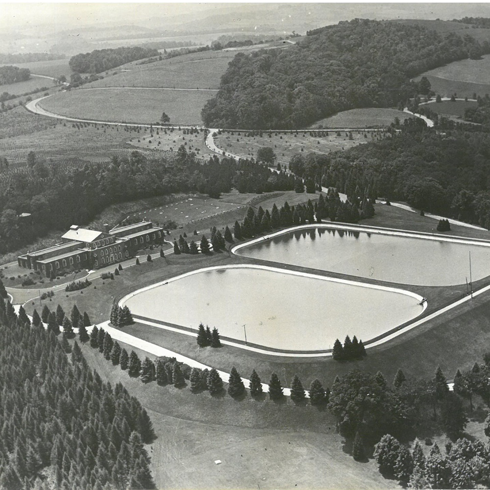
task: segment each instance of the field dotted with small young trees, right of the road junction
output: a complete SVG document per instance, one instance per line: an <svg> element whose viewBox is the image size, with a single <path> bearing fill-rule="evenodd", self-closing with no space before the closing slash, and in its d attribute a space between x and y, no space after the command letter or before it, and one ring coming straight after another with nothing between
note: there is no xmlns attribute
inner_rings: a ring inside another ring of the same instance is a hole
<svg viewBox="0 0 490 490"><path fill-rule="evenodd" d="M349 133L342 131L324 133L325 136L310 136L308 133L264 132L263 136L245 136L244 132L227 131L217 135L214 140L218 148L239 155L243 158L256 157L257 151L263 147L271 147L277 156L276 162L288 164L296 153L306 156L310 151L329 153L330 151L348 149L369 141L378 141L389 137L389 133L365 133L353 131L352 140Z"/></svg>

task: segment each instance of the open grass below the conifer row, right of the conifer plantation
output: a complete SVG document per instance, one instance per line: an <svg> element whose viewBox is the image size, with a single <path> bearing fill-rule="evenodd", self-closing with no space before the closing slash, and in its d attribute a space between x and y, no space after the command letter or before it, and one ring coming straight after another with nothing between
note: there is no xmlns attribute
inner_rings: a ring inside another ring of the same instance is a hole
<svg viewBox="0 0 490 490"><path fill-rule="evenodd" d="M398 488L372 460L356 463L346 453L328 411L294 406L290 399L255 401L247 394L235 401L227 394L144 385L98 350L82 350L104 381L121 381L147 409L158 436L147 449L159 489Z"/></svg>

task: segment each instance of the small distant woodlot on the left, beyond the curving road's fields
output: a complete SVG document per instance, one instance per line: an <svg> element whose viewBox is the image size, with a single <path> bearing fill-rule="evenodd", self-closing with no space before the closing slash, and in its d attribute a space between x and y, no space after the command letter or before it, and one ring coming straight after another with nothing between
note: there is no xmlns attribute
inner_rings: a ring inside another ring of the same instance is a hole
<svg viewBox="0 0 490 490"><path fill-rule="evenodd" d="M131 61L158 56L157 49L131 48L95 49L90 53L79 53L69 61L70 68L77 73L102 73Z"/></svg>

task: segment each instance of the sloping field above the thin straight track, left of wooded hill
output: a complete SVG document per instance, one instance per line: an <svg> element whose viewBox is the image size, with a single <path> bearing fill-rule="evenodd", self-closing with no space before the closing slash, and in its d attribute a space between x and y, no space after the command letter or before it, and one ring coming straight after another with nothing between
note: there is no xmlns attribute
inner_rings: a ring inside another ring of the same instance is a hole
<svg viewBox="0 0 490 490"><path fill-rule="evenodd" d="M137 61L104 73L86 87L220 88L221 75L236 52L202 51L138 65ZM116 73L116 74L113 74Z"/></svg>

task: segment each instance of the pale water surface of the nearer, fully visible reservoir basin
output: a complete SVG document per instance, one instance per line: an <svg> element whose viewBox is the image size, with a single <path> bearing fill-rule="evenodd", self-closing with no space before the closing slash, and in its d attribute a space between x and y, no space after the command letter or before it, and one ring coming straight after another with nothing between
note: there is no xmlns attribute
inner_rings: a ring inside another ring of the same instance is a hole
<svg viewBox="0 0 490 490"><path fill-rule="evenodd" d="M351 284L240 268L198 272L136 294L131 312L285 350L323 350L348 334L368 341L415 318L416 298Z"/></svg>

